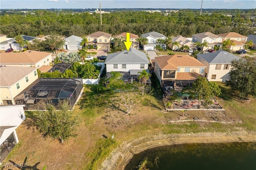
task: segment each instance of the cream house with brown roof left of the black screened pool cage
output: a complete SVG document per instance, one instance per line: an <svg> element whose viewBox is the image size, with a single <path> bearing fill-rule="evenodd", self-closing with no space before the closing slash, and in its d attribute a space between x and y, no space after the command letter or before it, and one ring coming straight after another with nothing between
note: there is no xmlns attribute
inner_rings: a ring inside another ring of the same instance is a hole
<svg viewBox="0 0 256 170"><path fill-rule="evenodd" d="M38 79L36 69L0 65L0 104L14 104L14 97Z"/></svg>

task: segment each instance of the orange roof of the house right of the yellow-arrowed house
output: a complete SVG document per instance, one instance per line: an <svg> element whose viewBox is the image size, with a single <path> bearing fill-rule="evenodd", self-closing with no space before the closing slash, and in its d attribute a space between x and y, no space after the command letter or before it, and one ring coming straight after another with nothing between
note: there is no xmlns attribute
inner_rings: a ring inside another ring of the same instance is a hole
<svg viewBox="0 0 256 170"><path fill-rule="evenodd" d="M178 67L205 67L200 61L188 55L166 55L155 57L161 70L178 70Z"/></svg>

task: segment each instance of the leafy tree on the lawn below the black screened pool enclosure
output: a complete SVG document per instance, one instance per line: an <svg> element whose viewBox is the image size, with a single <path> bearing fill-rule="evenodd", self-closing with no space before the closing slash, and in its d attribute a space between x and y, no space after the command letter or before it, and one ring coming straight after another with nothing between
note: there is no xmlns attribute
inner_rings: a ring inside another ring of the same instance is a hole
<svg viewBox="0 0 256 170"><path fill-rule="evenodd" d="M75 136L77 119L74 117L73 111L69 111L70 105L67 100L59 101L58 106L59 110L56 110L53 104L46 104L47 111L36 113L36 125L45 137L50 136L63 143L69 137Z"/></svg>

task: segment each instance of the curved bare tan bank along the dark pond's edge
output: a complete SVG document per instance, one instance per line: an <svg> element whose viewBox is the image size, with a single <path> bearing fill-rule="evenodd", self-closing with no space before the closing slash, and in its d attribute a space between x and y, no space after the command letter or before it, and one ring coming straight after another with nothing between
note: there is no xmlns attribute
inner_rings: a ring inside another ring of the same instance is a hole
<svg viewBox="0 0 256 170"><path fill-rule="evenodd" d="M184 143L256 142L256 132L236 131L231 133L191 133L145 136L131 139L115 149L102 164L102 170L122 170L134 154L164 145Z"/></svg>

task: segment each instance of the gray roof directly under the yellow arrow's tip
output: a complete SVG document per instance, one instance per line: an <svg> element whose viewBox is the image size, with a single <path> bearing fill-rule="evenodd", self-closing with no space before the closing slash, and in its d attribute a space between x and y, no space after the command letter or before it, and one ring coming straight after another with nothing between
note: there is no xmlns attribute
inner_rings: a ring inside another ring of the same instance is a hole
<svg viewBox="0 0 256 170"><path fill-rule="evenodd" d="M106 64L118 63L118 64L147 64L149 63L146 53L139 51L134 48L130 48L129 52L127 50L109 54L105 61Z"/></svg>

